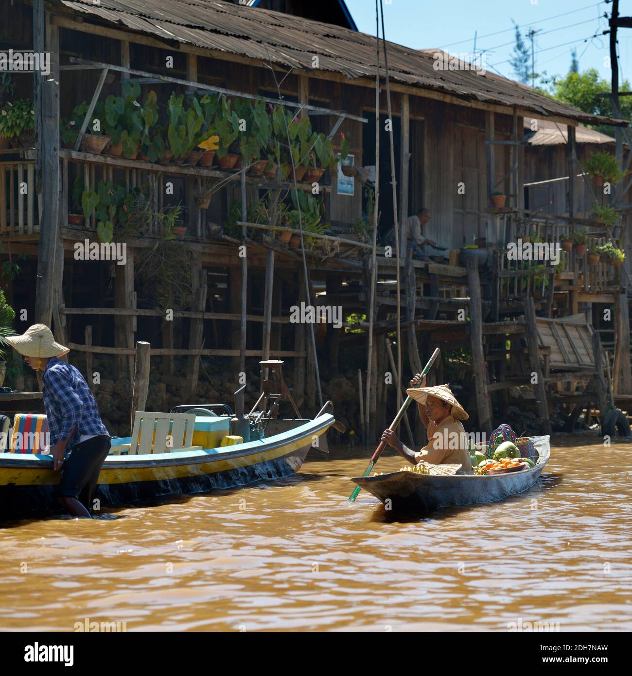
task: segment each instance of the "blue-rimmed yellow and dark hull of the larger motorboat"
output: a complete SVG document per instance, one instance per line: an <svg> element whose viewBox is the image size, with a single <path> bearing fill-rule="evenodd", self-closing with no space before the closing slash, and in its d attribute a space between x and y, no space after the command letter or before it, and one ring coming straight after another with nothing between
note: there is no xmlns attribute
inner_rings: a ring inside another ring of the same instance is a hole
<svg viewBox="0 0 632 676"><path fill-rule="evenodd" d="M232 447L107 456L95 498L101 507L117 507L283 479L301 468L314 439L333 422L333 416L326 414L268 439ZM59 478L49 456L0 454L0 514L55 511Z"/></svg>

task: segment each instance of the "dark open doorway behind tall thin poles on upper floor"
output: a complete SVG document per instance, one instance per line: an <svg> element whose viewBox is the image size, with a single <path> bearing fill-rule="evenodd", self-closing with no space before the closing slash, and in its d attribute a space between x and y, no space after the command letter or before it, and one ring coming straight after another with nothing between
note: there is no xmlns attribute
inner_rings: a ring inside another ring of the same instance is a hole
<svg viewBox="0 0 632 676"><path fill-rule="evenodd" d="M375 113L365 111L364 117L368 120L362 124L362 162L364 166L375 164ZM386 130L388 116L380 115L380 202L378 209L381 213L379 235L384 238L393 227L393 185L391 181L391 132ZM393 116L393 141L395 150L395 183L399 181L399 151L400 130L402 124L398 116ZM398 197L399 199L399 197ZM397 205L399 206L399 204ZM365 205L362 205L365 209Z"/></svg>

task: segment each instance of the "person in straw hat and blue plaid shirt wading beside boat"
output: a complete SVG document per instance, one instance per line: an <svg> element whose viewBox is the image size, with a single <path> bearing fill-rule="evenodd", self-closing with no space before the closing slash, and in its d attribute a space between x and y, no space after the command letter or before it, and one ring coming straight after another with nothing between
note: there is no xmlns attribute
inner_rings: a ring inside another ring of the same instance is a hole
<svg viewBox="0 0 632 676"><path fill-rule="evenodd" d="M56 343L45 324L33 324L7 343L34 370L42 370L42 399L51 435L53 469L62 470L57 502L73 516L91 518L99 470L110 451L110 435L101 422L97 402L80 372L59 357L70 349ZM66 449L70 455L64 458Z"/></svg>

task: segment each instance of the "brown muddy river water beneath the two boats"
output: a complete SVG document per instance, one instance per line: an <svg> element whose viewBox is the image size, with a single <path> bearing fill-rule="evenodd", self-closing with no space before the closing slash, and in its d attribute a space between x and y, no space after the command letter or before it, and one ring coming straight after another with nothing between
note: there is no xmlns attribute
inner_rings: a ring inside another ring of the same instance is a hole
<svg viewBox="0 0 632 676"><path fill-rule="evenodd" d="M284 481L5 524L0 629L630 631L632 445L592 441L554 439L528 493L424 517L347 502L367 458L334 448Z"/></svg>

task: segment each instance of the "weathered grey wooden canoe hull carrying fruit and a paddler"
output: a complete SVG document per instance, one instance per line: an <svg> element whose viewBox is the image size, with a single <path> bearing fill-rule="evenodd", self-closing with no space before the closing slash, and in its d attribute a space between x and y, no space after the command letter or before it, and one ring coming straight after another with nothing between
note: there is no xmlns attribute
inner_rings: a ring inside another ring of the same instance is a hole
<svg viewBox="0 0 632 676"><path fill-rule="evenodd" d="M524 493L537 481L549 460L549 437L531 437L535 467L496 476L452 476L393 472L377 477L354 477L353 483L393 510L431 512L440 507L496 502Z"/></svg>

